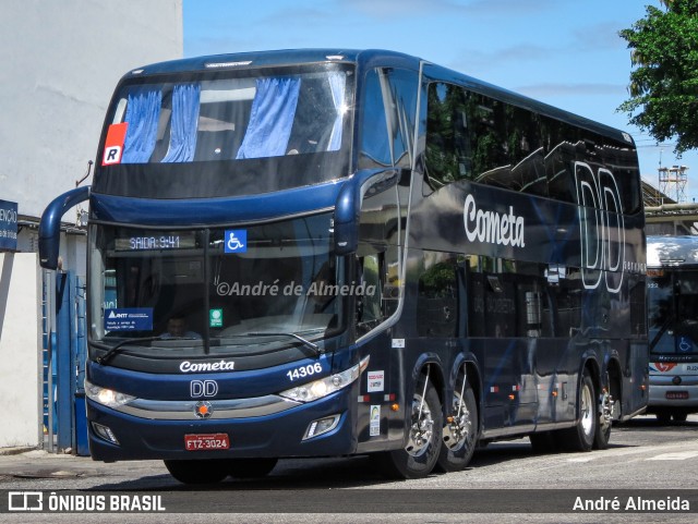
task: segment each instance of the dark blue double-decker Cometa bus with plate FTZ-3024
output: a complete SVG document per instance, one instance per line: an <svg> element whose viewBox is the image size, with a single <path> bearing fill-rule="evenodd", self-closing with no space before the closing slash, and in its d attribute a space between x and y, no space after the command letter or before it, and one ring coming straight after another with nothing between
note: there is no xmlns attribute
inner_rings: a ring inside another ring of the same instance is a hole
<svg viewBox="0 0 698 524"><path fill-rule="evenodd" d="M192 58L123 76L44 267L87 198L95 460L418 478L496 439L605 448L646 409L626 133L389 51Z"/></svg>

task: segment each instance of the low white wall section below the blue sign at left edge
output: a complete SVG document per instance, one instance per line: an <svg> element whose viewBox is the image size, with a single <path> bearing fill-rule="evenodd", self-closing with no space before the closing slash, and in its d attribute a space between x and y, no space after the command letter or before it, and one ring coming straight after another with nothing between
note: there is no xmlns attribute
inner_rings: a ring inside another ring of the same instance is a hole
<svg viewBox="0 0 698 524"><path fill-rule="evenodd" d="M39 444L40 272L36 253L0 254L0 448Z"/></svg>

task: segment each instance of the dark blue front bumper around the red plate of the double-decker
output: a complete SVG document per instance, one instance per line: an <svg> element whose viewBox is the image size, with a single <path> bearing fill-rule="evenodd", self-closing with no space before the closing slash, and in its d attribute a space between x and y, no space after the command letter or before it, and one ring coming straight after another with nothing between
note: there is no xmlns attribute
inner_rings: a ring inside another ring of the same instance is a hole
<svg viewBox="0 0 698 524"><path fill-rule="evenodd" d="M140 418L87 400L89 451L94 460L236 459L322 456L357 450L358 382L325 399L254 418L159 421ZM303 440L313 421L340 415L330 431ZM119 446L95 434L93 424L111 429ZM185 435L227 434L230 449L186 451Z"/></svg>

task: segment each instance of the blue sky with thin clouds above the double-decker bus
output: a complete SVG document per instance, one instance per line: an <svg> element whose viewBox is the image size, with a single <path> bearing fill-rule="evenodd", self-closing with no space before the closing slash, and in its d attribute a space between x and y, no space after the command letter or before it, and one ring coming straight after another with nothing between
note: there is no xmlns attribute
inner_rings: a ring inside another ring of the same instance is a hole
<svg viewBox="0 0 698 524"><path fill-rule="evenodd" d="M627 123L630 53L618 31L659 0L183 0L184 56L329 47L401 51L628 131L642 176L683 164Z"/></svg>

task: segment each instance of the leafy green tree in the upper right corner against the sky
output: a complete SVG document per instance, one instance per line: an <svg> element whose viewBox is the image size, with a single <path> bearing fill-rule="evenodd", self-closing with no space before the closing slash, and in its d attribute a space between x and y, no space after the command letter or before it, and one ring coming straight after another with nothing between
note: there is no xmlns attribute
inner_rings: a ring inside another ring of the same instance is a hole
<svg viewBox="0 0 698 524"><path fill-rule="evenodd" d="M618 107L658 142L676 139L681 157L698 148L698 0L660 0L619 35L634 70L630 98Z"/></svg>

